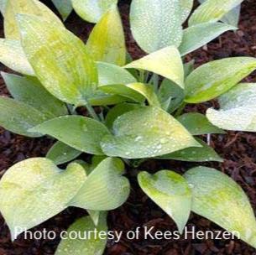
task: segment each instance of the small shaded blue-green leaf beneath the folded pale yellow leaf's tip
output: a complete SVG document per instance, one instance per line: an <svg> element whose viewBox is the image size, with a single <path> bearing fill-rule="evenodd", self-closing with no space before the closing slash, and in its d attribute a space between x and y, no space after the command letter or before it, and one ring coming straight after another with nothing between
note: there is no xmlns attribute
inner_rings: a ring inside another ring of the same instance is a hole
<svg viewBox="0 0 256 255"><path fill-rule="evenodd" d="M158 91L159 101L166 112L175 112L184 100L184 91L175 82L165 79Z"/></svg>

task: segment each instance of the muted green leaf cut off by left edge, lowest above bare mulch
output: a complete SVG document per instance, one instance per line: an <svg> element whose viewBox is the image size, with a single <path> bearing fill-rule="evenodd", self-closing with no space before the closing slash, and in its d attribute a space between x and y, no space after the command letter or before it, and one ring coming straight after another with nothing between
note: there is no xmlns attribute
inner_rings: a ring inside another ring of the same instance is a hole
<svg viewBox="0 0 256 255"><path fill-rule="evenodd" d="M29 107L24 102L12 98L0 96L0 126L3 128L28 137L40 137L42 136L40 133L29 133L28 129L46 120L47 117L34 107Z"/></svg>

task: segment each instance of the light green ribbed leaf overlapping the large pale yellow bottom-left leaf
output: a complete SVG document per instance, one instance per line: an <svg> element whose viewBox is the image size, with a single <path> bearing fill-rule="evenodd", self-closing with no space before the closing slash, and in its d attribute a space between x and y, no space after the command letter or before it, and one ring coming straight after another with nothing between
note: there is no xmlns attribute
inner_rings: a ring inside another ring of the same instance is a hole
<svg viewBox="0 0 256 255"><path fill-rule="evenodd" d="M121 206L130 192L128 179L123 177L121 159L103 159L86 178L84 185L69 203L93 211L109 211Z"/></svg>

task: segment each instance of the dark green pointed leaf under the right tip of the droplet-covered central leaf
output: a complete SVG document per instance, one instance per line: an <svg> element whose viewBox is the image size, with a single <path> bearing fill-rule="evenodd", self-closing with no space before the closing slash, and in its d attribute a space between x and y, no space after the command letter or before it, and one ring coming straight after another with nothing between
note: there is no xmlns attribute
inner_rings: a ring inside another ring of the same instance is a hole
<svg viewBox="0 0 256 255"><path fill-rule="evenodd" d="M200 143L202 147L184 148L172 154L160 156L159 159L173 159L187 162L223 162L223 159L212 147L208 146L201 139L196 138L196 141Z"/></svg>

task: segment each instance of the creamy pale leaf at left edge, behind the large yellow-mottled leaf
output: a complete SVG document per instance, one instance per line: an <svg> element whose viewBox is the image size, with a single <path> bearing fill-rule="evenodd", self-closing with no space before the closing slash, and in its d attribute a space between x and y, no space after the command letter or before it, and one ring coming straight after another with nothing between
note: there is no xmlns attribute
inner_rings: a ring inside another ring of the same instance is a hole
<svg viewBox="0 0 256 255"><path fill-rule="evenodd" d="M18 40L0 39L0 62L18 73L34 75L34 70Z"/></svg>

